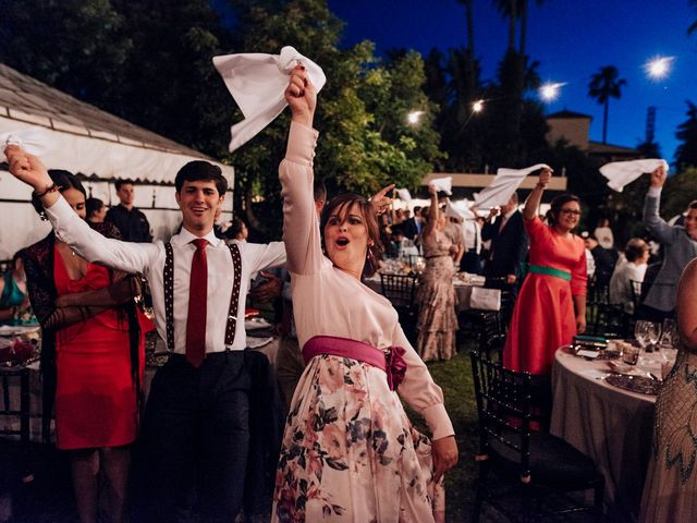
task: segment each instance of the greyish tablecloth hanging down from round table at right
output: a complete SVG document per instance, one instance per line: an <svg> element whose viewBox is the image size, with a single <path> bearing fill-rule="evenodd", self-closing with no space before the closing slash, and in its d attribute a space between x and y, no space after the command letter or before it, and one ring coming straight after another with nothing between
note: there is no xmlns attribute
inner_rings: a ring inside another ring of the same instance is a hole
<svg viewBox="0 0 697 523"><path fill-rule="evenodd" d="M612 521L633 521L651 449L656 397L607 384L609 373L607 361L558 350L550 431L596 462L606 477L604 500Z"/></svg>

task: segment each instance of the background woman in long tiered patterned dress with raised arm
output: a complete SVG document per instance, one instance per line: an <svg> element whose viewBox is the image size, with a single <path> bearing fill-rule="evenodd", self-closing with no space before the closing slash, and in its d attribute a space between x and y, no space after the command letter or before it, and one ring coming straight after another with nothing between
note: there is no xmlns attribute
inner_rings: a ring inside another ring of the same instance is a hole
<svg viewBox="0 0 697 523"><path fill-rule="evenodd" d="M438 193L430 185L431 205L426 215L426 224L421 232L421 244L426 269L421 275L416 302L418 321L416 329L416 352L425 362L450 360L456 353L455 331L455 288L453 287L452 255L457 247L445 234L448 217L438 208Z"/></svg>

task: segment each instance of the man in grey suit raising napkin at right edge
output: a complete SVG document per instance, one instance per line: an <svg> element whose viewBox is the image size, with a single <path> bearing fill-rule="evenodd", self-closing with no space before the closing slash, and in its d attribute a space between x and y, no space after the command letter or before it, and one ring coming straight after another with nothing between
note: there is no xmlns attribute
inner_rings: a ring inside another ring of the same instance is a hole
<svg viewBox="0 0 697 523"><path fill-rule="evenodd" d="M669 226L659 216L665 169L651 172L651 185L644 203L644 223L663 246L663 263L637 315L661 323L674 316L676 281L685 266L697 256L697 200L687 206L683 226Z"/></svg>

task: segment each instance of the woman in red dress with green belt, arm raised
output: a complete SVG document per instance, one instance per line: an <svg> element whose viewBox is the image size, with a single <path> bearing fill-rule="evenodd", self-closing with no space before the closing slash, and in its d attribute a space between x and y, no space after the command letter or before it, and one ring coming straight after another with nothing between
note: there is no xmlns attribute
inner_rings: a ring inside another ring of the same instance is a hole
<svg viewBox="0 0 697 523"><path fill-rule="evenodd" d="M525 229L530 239L530 266L513 309L503 365L517 372L549 375L554 352L586 329L586 252L572 230L578 224L578 197L552 200L548 226L537 216L551 171L525 202Z"/></svg>

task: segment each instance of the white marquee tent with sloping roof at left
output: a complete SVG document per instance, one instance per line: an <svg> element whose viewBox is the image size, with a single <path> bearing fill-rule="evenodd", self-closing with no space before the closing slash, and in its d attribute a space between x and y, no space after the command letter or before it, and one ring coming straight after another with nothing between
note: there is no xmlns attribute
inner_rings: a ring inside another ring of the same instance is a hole
<svg viewBox="0 0 697 523"><path fill-rule="evenodd" d="M156 239L168 239L180 224L173 184L184 163L205 159L220 166L230 186L234 180L230 166L0 63L0 134L32 126L41 127L50 137L50 150L41 156L46 166L88 177L84 182L88 195L107 205L119 203L115 180L135 180L135 205L147 215ZM232 214L231 196L228 194L223 207L228 216ZM7 163L0 163L0 260L40 240L49 230L29 200L29 187L7 171Z"/></svg>

